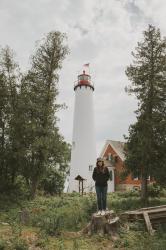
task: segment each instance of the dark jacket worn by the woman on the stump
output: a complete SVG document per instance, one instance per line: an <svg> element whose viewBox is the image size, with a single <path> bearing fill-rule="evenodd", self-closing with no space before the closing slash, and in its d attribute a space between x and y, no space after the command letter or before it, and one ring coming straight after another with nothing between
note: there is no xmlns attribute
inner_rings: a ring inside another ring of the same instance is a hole
<svg viewBox="0 0 166 250"><path fill-rule="evenodd" d="M97 167L93 170L92 175L93 180L95 181L95 186L107 186L107 181L109 180L109 170L107 167L105 167L105 172L99 172L97 171Z"/></svg>

